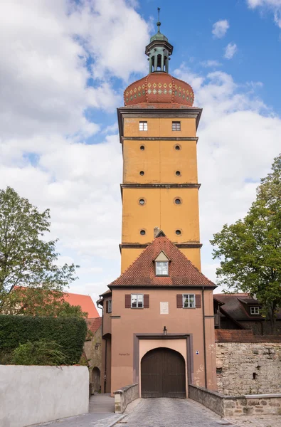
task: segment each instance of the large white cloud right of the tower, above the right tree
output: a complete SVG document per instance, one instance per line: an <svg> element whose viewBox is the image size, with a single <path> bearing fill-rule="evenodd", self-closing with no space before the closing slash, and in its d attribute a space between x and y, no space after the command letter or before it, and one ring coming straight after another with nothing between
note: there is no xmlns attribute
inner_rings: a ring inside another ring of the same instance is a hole
<svg viewBox="0 0 281 427"><path fill-rule="evenodd" d="M202 266L215 280L208 241L224 223L248 211L260 178L280 152L281 118L256 97L253 82L240 86L221 71L198 78L184 67L176 75L191 84L195 105L203 107L198 128Z"/></svg>

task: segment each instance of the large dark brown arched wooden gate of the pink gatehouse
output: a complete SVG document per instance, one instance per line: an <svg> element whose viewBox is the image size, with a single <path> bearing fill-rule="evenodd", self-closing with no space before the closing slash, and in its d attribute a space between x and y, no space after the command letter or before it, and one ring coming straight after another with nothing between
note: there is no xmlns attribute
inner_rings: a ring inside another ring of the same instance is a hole
<svg viewBox="0 0 281 427"><path fill-rule="evenodd" d="M142 397L186 397L184 357L165 347L150 350L141 362Z"/></svg>

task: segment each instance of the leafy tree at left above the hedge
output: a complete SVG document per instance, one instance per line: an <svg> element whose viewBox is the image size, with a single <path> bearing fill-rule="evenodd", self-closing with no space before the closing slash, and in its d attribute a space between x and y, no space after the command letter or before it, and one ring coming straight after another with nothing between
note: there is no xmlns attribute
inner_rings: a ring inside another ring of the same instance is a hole
<svg viewBox="0 0 281 427"><path fill-rule="evenodd" d="M50 226L48 209L39 212L11 187L0 191L0 314L85 315L63 298L75 265L57 265L58 240L44 238Z"/></svg>

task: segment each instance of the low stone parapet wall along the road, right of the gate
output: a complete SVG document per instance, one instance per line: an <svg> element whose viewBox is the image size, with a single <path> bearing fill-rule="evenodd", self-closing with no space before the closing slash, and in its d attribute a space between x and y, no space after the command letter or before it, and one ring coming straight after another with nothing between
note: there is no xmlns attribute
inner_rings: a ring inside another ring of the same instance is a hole
<svg viewBox="0 0 281 427"><path fill-rule="evenodd" d="M281 415L281 394L225 396L198 386L189 386L189 399L222 417L239 415Z"/></svg>

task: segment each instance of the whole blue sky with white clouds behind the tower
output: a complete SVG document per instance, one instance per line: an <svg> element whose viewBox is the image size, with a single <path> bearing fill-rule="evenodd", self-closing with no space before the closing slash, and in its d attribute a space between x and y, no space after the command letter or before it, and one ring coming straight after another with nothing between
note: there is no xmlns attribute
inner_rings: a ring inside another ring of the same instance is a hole
<svg viewBox="0 0 281 427"><path fill-rule="evenodd" d="M203 107L198 174L203 273L208 243L244 216L281 152L281 0L1 0L0 187L51 209L71 291L93 300L120 275L122 153L116 108L148 73L161 30L170 72Z"/></svg>

